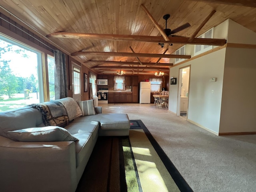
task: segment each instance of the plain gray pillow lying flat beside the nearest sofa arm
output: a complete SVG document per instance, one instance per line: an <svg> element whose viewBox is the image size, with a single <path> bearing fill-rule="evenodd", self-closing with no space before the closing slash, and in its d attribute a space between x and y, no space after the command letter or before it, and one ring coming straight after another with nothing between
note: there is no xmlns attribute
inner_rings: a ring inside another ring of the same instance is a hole
<svg viewBox="0 0 256 192"><path fill-rule="evenodd" d="M14 141L23 142L50 142L50 141L76 141L66 129L58 126L26 128L8 131L7 135Z"/></svg>

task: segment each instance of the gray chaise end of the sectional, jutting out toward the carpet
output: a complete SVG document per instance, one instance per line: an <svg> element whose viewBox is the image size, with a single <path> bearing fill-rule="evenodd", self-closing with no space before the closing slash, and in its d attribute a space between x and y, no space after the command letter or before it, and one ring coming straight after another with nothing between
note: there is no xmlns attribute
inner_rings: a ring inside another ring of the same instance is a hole
<svg viewBox="0 0 256 192"><path fill-rule="evenodd" d="M130 120L127 114L100 114L99 136L128 136Z"/></svg>

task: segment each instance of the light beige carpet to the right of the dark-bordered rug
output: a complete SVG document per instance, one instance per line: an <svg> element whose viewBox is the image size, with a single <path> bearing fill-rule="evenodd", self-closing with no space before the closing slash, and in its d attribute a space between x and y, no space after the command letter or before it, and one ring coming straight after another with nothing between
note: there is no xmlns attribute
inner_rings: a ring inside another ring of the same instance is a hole
<svg viewBox="0 0 256 192"><path fill-rule="evenodd" d="M255 192L256 135L216 136L171 113L140 119L195 192Z"/></svg>

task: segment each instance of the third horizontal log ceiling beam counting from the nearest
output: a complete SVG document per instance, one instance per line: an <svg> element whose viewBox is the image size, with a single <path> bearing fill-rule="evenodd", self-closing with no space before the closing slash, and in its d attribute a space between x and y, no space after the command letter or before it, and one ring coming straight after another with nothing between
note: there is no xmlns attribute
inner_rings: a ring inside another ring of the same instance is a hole
<svg viewBox="0 0 256 192"><path fill-rule="evenodd" d="M84 63L94 63L94 64L119 64L119 65L139 65L139 62L127 62L127 61L96 61L89 60ZM154 63L142 62L142 65L155 66ZM156 66L173 66L173 63L158 63Z"/></svg>

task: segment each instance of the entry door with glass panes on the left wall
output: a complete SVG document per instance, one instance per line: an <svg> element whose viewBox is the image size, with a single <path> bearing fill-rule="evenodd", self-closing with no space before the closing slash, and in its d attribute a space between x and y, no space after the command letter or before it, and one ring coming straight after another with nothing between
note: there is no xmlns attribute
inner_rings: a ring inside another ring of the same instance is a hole
<svg viewBox="0 0 256 192"><path fill-rule="evenodd" d="M72 98L81 100L81 67L72 64Z"/></svg>

